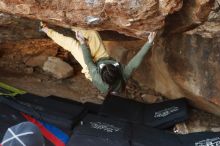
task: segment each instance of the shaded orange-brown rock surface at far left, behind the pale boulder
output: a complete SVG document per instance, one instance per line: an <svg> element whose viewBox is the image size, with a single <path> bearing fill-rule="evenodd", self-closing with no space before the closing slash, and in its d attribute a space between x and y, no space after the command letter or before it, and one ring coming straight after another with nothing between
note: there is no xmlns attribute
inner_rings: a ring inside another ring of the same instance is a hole
<svg viewBox="0 0 220 146"><path fill-rule="evenodd" d="M15 72L37 67L48 56L56 56L59 46L46 39L29 39L0 44L0 67ZM41 59L40 59L41 58Z"/></svg>

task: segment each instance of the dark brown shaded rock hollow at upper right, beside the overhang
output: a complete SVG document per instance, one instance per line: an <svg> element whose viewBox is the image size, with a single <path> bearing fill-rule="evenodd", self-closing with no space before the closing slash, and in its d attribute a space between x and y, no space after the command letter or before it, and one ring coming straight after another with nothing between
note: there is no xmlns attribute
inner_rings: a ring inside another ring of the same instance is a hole
<svg viewBox="0 0 220 146"><path fill-rule="evenodd" d="M184 0L183 7L166 19L165 33L180 33L193 29L207 20L215 0Z"/></svg>

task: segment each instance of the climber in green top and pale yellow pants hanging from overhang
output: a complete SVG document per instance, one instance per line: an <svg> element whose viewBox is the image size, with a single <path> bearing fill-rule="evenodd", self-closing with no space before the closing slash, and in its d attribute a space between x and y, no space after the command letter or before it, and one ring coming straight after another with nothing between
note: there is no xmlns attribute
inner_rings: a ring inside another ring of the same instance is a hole
<svg viewBox="0 0 220 146"><path fill-rule="evenodd" d="M72 28L72 31L76 32L77 40L48 28L42 22L41 30L58 45L72 53L82 66L82 73L102 93L121 93L124 91L126 81L133 70L140 65L156 36L156 32L151 32L148 36L148 42L126 66L123 66L108 55L98 32L94 30Z"/></svg>

